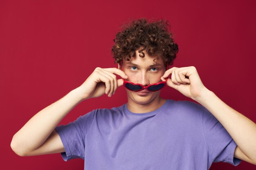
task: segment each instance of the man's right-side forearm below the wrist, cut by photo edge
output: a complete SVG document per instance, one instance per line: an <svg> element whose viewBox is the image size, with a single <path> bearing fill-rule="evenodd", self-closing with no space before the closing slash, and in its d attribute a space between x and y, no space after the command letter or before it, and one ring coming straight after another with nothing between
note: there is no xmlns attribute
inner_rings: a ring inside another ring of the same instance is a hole
<svg viewBox="0 0 256 170"><path fill-rule="evenodd" d="M220 121L247 157L256 159L256 124L253 121L229 107L208 89L195 101Z"/></svg>

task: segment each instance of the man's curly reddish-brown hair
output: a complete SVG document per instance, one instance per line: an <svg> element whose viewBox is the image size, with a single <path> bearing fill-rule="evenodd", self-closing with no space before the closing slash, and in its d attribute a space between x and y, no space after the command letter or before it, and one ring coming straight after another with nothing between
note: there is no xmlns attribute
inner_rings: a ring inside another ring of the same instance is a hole
<svg viewBox="0 0 256 170"><path fill-rule="evenodd" d="M144 57L145 50L149 56L162 57L165 63L173 65L179 48L167 26L170 26L167 20L148 22L145 18L125 24L124 30L116 34L111 49L115 63L123 59L130 61L136 56L136 50L139 50L140 57Z"/></svg>

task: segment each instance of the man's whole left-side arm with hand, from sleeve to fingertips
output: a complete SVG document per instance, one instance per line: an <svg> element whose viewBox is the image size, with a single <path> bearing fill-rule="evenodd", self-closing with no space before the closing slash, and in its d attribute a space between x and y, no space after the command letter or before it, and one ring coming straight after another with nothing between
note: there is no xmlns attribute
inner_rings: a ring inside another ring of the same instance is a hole
<svg viewBox="0 0 256 170"><path fill-rule="evenodd" d="M13 136L12 150L20 156L64 152L60 136L54 129L83 100L103 94L111 97L123 84L123 80L117 80L113 73L127 78L127 75L117 68L96 68L81 86L34 115Z"/></svg>

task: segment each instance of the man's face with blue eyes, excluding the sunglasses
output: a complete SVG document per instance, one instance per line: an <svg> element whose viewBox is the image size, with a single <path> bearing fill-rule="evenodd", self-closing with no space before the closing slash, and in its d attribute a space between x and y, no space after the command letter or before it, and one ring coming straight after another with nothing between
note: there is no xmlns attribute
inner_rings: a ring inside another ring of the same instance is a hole
<svg viewBox="0 0 256 170"><path fill-rule="evenodd" d="M145 56L139 57L139 52L136 51L136 57L131 57L130 61L123 61L123 71L128 75L127 81L139 83L143 86L158 83L162 80L160 77L164 75L165 65L162 57L149 56L144 51ZM139 92L129 91L126 89L128 101L132 100L137 104L148 104L155 97L159 97L160 91L148 91L144 89Z"/></svg>

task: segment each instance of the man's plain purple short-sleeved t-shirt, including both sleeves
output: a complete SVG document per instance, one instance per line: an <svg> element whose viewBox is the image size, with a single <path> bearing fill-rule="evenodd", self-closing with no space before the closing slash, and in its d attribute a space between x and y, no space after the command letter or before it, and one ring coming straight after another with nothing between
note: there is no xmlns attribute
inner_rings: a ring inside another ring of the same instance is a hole
<svg viewBox="0 0 256 170"><path fill-rule="evenodd" d="M84 159L85 170L209 170L213 162L241 162L222 124L190 101L168 99L139 114L127 104L96 109L55 129L63 159Z"/></svg>

